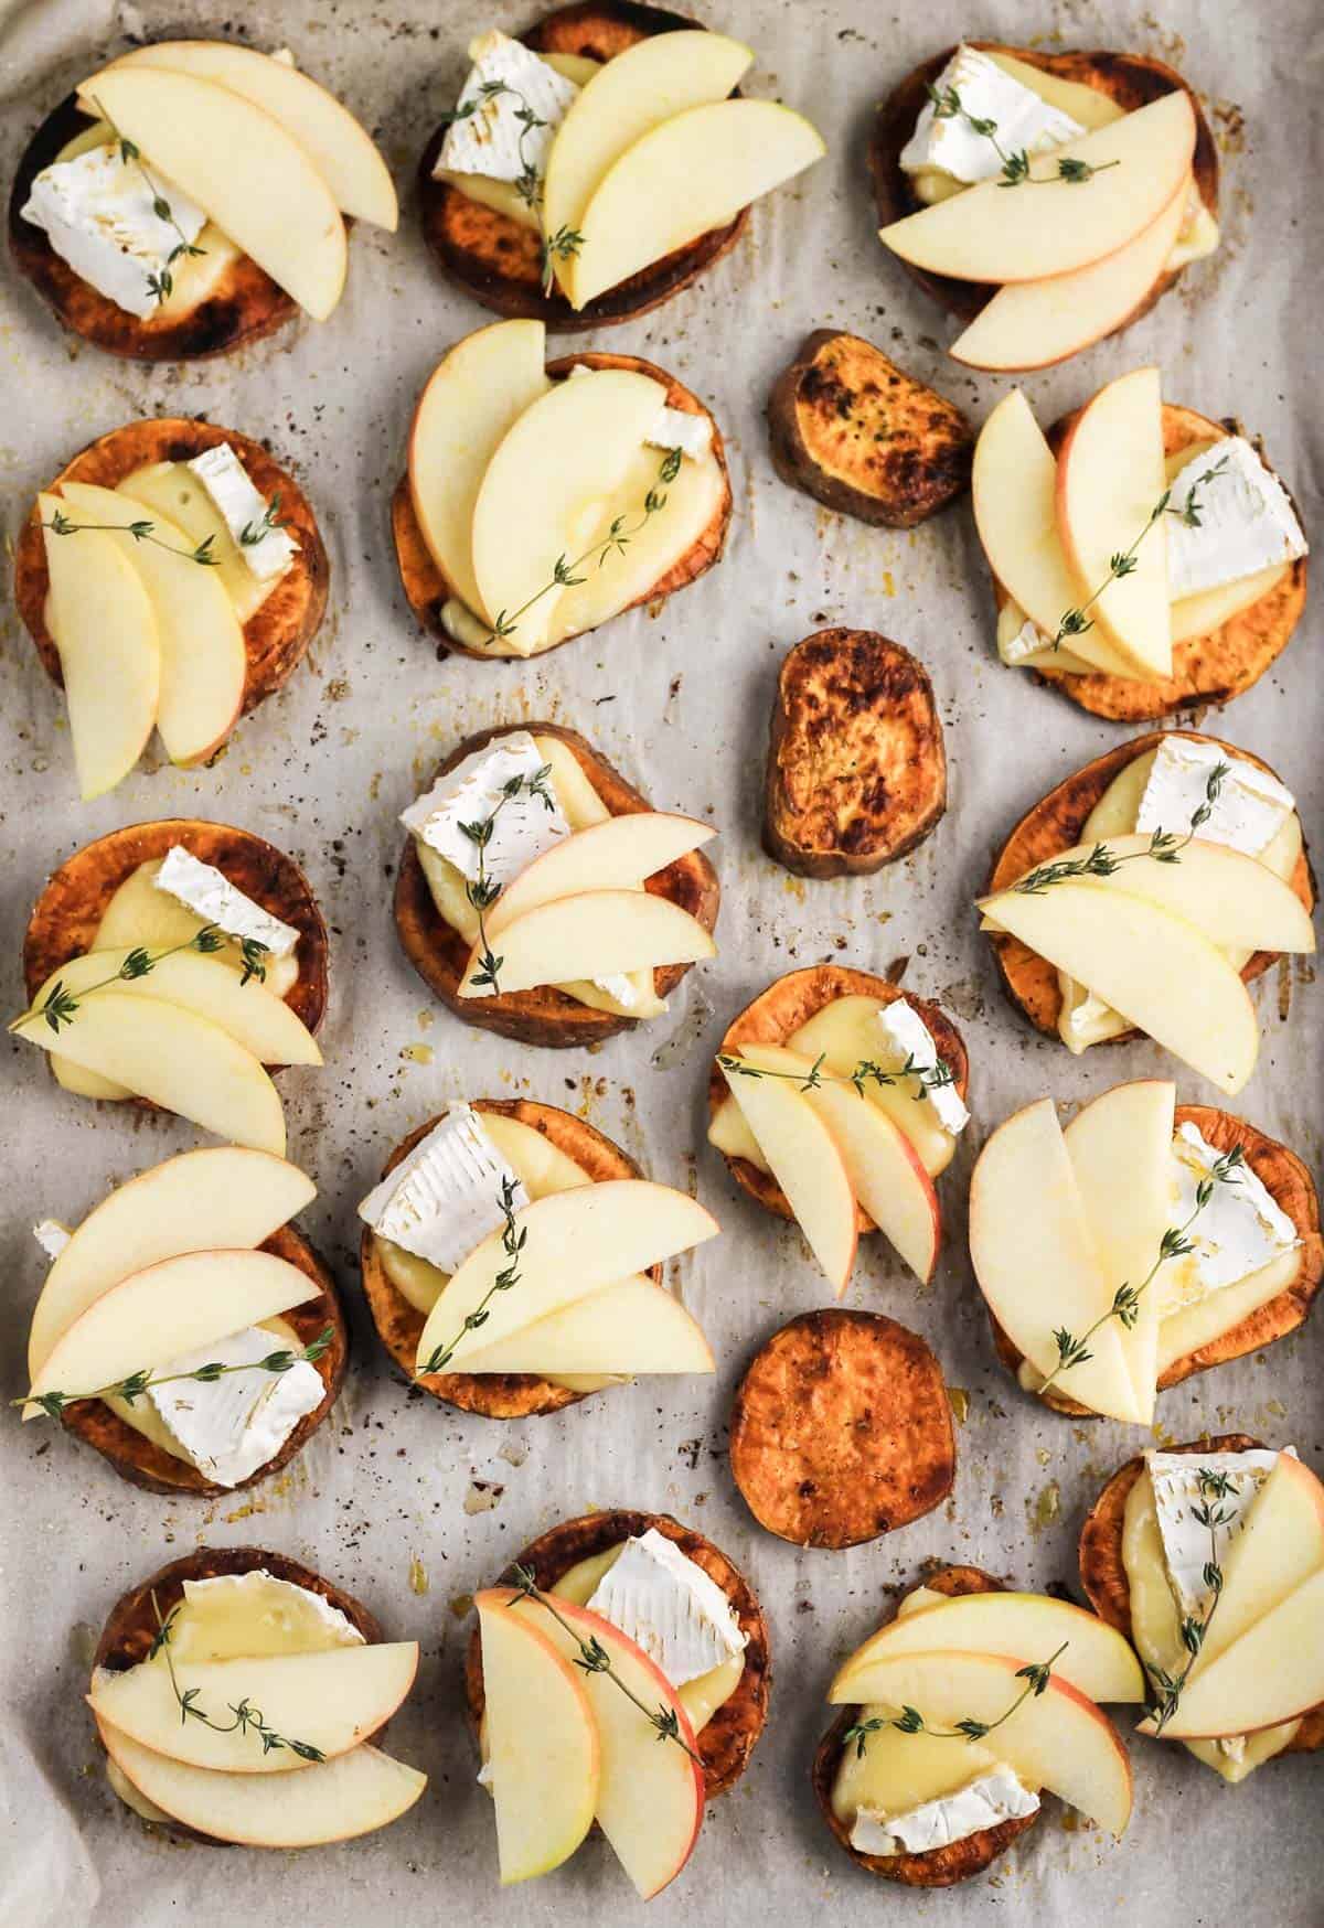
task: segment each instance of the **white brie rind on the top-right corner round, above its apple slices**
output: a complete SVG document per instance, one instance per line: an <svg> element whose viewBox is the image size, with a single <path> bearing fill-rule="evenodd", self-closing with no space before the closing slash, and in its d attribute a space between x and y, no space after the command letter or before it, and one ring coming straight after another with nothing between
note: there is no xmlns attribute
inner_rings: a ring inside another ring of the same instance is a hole
<svg viewBox="0 0 1324 1928"><path fill-rule="evenodd" d="M938 118L928 100L915 121L915 133L901 148L901 168L921 174L936 168L955 181L992 181L1002 174L1002 154L1044 154L1085 133L1079 121L1062 108L1048 106L1033 87L1023 87L988 54L973 46L957 46L938 75L936 89L946 94L955 87L963 114ZM988 135L975 133L967 116L996 123L998 147Z"/></svg>

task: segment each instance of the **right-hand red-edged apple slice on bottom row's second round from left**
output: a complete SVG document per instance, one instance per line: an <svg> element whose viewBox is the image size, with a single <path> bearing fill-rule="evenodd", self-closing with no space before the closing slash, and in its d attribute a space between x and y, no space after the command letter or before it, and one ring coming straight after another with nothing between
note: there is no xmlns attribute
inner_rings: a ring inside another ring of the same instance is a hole
<svg viewBox="0 0 1324 1928"><path fill-rule="evenodd" d="M589 1641L612 1660L616 1679L585 1674L602 1745L594 1818L637 1893L650 1901L681 1872L703 1824L703 1762L685 1706L666 1674L602 1614L558 1600L558 1621L540 1600L529 1598L511 1610L537 1625L571 1666ZM664 1739L645 1708L674 1720L677 1739Z"/></svg>

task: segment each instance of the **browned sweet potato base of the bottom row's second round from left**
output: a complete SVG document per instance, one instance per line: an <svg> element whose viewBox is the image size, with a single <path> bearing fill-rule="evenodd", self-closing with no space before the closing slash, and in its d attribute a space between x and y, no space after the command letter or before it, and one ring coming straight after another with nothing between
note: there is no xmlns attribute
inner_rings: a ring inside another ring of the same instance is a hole
<svg viewBox="0 0 1324 1928"><path fill-rule="evenodd" d="M768 1621L759 1606L759 1594L749 1585L739 1567L726 1554L706 1540L703 1533L693 1533L670 1513L639 1513L633 1510L610 1508L604 1513L583 1513L579 1519L564 1519L558 1527L538 1535L521 1554L510 1562L500 1585L513 1585L513 1569L527 1567L538 1587L550 1591L581 1560L593 1560L621 1540L639 1539L654 1529L676 1540L679 1550L704 1569L718 1583L735 1608L741 1631L749 1635L745 1647L745 1672L739 1687L699 1735L703 1756L704 1791L708 1799L724 1795L733 1787L749 1764L759 1735L768 1718L768 1695L772 1691L772 1645ZM477 1733L483 1722L483 1643L479 1629L469 1635L465 1652L465 1697L469 1700L469 1724Z"/></svg>

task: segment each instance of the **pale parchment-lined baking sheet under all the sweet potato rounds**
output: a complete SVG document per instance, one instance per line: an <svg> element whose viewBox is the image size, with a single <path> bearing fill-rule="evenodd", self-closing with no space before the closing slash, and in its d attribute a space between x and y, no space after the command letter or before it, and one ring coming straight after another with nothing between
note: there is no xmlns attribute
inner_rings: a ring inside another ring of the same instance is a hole
<svg viewBox="0 0 1324 1928"><path fill-rule="evenodd" d="M199 814L245 825L311 873L334 931L326 1070L284 1080L291 1157L320 1195L305 1222L332 1255L355 1326L345 1394L284 1477L216 1504L176 1504L125 1486L91 1452L42 1427L0 1427L0 1924L162 1928L191 1920L293 1918L401 1928L438 1916L569 1922L637 1903L602 1841L556 1876L496 1888L492 1816L475 1787L459 1662L467 1596L531 1535L591 1506L676 1512L751 1575L774 1635L768 1731L733 1795L708 1812L699 1849L658 1901L656 1928L803 1920L830 1909L1007 1924L1318 1920L1320 1756L1274 1762L1227 1789L1181 1749L1137 1741L1137 1808L1119 1847L1056 1803L996 1870L948 1895L892 1889L830 1841L807 1772L828 1714L834 1662L869 1633L886 1589L924 1560L979 1562L1027 1587L1075 1585L1075 1542L1102 1479L1145 1440L1040 1411L996 1367L965 1257L965 1192L986 1132L1052 1091L1083 1099L1173 1064L1150 1045L1073 1060L1000 997L971 897L1011 821L1060 777L1125 733L1004 671L967 505L911 534L818 509L772 474L762 405L809 328L870 335L977 420L1007 384L948 362L950 324L874 239L863 137L874 100L917 60L963 33L1038 44L1123 46L1177 62L1206 91L1224 150L1226 243L1121 343L1029 380L1040 420L1108 376L1162 361L1166 389L1264 434L1307 524L1318 526L1322 440L1310 357L1318 341L1316 229L1324 156L1316 112L1324 23L1309 0L1200 8L1160 17L1121 4L926 0L896 12L853 4L724 0L712 23L759 50L751 91L786 98L826 133L830 158L762 202L733 258L656 314L585 345L639 351L716 409L731 451L728 557L660 615L635 613L531 665L438 663L396 582L388 497L417 391L440 353L490 320L434 272L417 233L411 179L423 139L455 98L463 48L484 25L519 31L510 0L380 6L264 4L232 13L178 0L116 8L46 0L0 8L0 127L6 185L25 139L124 33L207 35L243 19L264 48L301 66L380 131L403 189L398 237L359 226L345 299L324 326L297 322L216 364L133 368L60 335L31 289L6 285L0 326L0 474L12 540L33 492L93 436L139 415L203 413L270 438L307 488L332 555L332 598L309 663L205 771L141 769L79 806L62 704L10 609L0 629L0 981L21 1004L19 939L46 873L124 823ZM759 846L764 727L784 650L820 623L876 627L928 665L948 727L950 810L936 835L878 877L805 883ZM1272 762L1320 835L1318 613L1224 719L1233 742ZM409 972L390 920L398 812L432 763L494 721L554 717L585 731L662 808L712 812L722 827L722 956L695 970L654 1028L598 1053L540 1053L471 1031ZM753 1350L826 1288L799 1236L749 1203L704 1147L706 1064L730 1016L774 976L818 958L882 970L938 997L973 1058L975 1126L942 1180L948 1238L921 1292L870 1240L851 1305L923 1330L963 1388L952 1502L847 1554L797 1552L762 1533L726 1465L731 1390ZM1239 1107L1320 1163L1320 1031L1312 970L1287 964L1255 987L1264 1049ZM1177 1070L1179 1095L1204 1099ZM527 1093L581 1111L666 1182L697 1182L724 1238L681 1267L685 1299L718 1352L714 1380L647 1380L560 1417L494 1425L409 1394L365 1315L355 1201L386 1151L459 1095ZM0 1120L12 1213L4 1230L4 1394L21 1359L41 1257L31 1222L79 1218L131 1172L193 1143L179 1120L124 1116L66 1097L39 1053L12 1043ZM1164 1394L1162 1440L1245 1429L1295 1442L1320 1465L1318 1330ZM307 1855L222 1853L151 1837L108 1793L81 1702L95 1629L125 1585L195 1544L293 1554L359 1593L390 1635L423 1643L419 1687L392 1747L430 1774L423 1803L365 1841ZM413 1575L413 1579L411 1579Z"/></svg>

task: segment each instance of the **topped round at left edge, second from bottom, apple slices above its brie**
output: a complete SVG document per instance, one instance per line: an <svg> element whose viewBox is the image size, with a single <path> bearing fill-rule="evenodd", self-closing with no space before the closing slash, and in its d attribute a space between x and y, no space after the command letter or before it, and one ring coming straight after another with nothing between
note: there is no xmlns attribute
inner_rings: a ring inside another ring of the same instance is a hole
<svg viewBox="0 0 1324 1928"><path fill-rule="evenodd" d="M139 1172L73 1230L44 1218L23 1419L60 1421L152 1492L234 1492L286 1465L349 1346L332 1276L290 1224L313 1197L284 1159L220 1145Z"/></svg>

